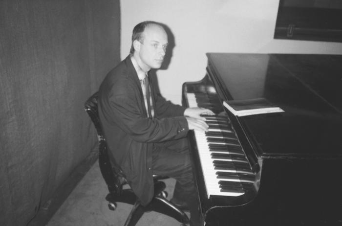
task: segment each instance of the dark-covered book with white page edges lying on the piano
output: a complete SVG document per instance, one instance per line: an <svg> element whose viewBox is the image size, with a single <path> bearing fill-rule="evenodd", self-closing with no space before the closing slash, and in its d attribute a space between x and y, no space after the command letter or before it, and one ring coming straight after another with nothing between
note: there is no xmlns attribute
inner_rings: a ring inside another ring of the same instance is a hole
<svg viewBox="0 0 342 226"><path fill-rule="evenodd" d="M284 112L265 98L228 100L223 101L223 106L236 116Z"/></svg>

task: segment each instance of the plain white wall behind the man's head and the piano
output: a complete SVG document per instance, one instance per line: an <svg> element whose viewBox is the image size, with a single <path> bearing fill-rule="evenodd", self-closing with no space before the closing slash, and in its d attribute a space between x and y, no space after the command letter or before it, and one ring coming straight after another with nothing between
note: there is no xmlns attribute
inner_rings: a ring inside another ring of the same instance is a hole
<svg viewBox="0 0 342 226"><path fill-rule="evenodd" d="M205 76L206 52L342 54L341 43L273 39L278 0L121 0L121 58L135 24L168 25L175 47L169 68L158 70L162 95L181 103L184 82Z"/></svg>

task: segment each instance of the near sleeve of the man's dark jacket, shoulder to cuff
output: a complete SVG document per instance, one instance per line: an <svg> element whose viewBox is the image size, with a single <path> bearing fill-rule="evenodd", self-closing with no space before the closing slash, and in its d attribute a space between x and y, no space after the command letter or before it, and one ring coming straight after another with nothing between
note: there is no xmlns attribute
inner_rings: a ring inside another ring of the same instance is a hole
<svg viewBox="0 0 342 226"><path fill-rule="evenodd" d="M108 96L109 111L106 117L111 117L112 122L132 139L139 142L161 142L187 135L189 128L184 116L147 118L142 112L140 96L132 91L136 90L133 85L125 83L124 86L116 87L116 90L121 91L111 92Z"/></svg>

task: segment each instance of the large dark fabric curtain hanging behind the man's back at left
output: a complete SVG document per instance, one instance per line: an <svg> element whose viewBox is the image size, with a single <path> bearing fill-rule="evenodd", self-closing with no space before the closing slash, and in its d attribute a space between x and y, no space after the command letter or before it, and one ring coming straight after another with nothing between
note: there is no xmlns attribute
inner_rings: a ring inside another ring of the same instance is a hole
<svg viewBox="0 0 342 226"><path fill-rule="evenodd" d="M119 0L0 0L0 225L27 225L96 144L83 104L120 60Z"/></svg>

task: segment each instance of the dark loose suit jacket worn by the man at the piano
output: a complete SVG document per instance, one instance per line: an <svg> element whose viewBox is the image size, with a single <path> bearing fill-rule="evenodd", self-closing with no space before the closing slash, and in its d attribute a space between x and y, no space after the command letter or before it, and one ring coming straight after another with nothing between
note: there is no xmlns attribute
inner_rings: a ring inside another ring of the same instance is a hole
<svg viewBox="0 0 342 226"><path fill-rule="evenodd" d="M98 100L109 156L121 166L143 205L153 197L153 143L181 138L188 132L185 108L165 101L154 91L151 95L153 119L147 116L140 81L128 56L107 74Z"/></svg>

